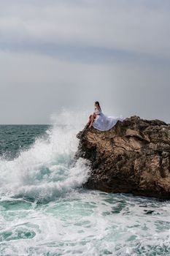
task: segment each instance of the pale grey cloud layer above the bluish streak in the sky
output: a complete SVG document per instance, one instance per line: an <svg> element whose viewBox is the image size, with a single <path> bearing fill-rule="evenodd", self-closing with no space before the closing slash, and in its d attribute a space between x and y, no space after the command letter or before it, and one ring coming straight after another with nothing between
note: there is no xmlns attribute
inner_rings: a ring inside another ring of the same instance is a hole
<svg viewBox="0 0 170 256"><path fill-rule="evenodd" d="M35 43L78 45L169 59L170 7L159 2L5 1L0 6L1 43L30 43L33 50Z"/></svg>

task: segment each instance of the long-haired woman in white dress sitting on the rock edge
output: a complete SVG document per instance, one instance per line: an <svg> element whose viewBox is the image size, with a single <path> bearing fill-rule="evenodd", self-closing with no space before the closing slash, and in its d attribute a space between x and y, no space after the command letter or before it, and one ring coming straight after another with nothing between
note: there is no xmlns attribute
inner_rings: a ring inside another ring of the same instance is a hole
<svg viewBox="0 0 170 256"><path fill-rule="evenodd" d="M95 102L95 111L92 115L89 116L87 126L94 127L100 131L107 131L111 129L117 121L123 121L125 118L123 116L106 116L101 111L99 102Z"/></svg>

